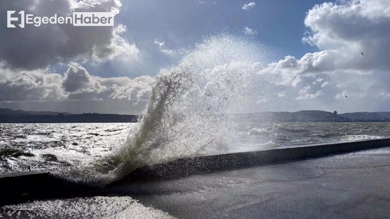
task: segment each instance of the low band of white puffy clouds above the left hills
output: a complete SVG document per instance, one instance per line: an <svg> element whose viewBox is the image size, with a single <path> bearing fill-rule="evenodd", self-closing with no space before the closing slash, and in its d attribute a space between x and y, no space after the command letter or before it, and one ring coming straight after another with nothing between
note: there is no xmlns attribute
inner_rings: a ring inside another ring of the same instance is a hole
<svg viewBox="0 0 390 219"><path fill-rule="evenodd" d="M10 74L11 73L11 74ZM64 76L46 71L0 70L0 102L67 100L147 101L154 78L92 76L82 65L71 62Z"/></svg>

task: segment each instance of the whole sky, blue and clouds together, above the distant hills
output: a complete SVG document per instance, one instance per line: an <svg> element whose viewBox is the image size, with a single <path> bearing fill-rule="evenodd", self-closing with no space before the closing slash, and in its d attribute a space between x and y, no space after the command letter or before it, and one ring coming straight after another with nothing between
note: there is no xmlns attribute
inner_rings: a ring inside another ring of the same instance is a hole
<svg viewBox="0 0 390 219"><path fill-rule="evenodd" d="M111 7L113 27L7 28L11 10ZM0 108L139 114L161 69L223 35L261 47L248 59L261 87L252 111L390 109L389 0L12 0L0 16Z"/></svg>

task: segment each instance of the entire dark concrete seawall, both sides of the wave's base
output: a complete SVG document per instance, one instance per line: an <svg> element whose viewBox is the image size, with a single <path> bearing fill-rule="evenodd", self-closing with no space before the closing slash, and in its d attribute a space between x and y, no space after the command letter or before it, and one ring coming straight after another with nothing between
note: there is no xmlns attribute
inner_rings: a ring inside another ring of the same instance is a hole
<svg viewBox="0 0 390 219"><path fill-rule="evenodd" d="M390 138L342 143L281 147L254 152L209 155L177 159L166 164L139 168L107 188L94 188L56 178L50 173L11 173L0 175L0 205L36 199L104 195L110 187L136 181L151 181L390 146Z"/></svg>

